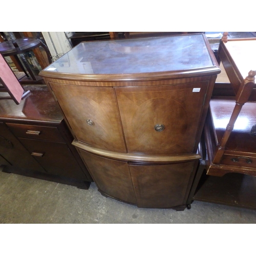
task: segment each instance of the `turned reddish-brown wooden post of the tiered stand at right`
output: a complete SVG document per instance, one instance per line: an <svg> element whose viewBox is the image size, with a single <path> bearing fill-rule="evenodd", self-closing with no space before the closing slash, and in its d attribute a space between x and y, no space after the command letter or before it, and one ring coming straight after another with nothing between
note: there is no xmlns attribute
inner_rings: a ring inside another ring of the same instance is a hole
<svg viewBox="0 0 256 256"><path fill-rule="evenodd" d="M217 147L217 151L214 157L214 160L212 163L214 164L219 164L222 156L225 152L225 147L226 143L228 141L228 138L234 128L234 123L236 122L238 115L242 109L242 106L247 102L251 91L254 86L254 81L255 81L255 75L256 75L256 70L251 70L248 73L248 76L242 81L237 96L236 96L236 105L234 106L233 112L231 114L231 117L229 119L229 123L227 124L226 131L222 137L222 140L220 144Z"/></svg>

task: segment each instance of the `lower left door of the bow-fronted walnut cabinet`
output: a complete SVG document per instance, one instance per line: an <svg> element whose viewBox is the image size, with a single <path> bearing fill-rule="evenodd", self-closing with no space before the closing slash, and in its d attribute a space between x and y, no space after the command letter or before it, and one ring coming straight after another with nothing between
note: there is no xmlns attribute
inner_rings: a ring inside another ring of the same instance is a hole
<svg viewBox="0 0 256 256"><path fill-rule="evenodd" d="M127 162L95 156L79 150L99 190L120 201L136 204Z"/></svg>

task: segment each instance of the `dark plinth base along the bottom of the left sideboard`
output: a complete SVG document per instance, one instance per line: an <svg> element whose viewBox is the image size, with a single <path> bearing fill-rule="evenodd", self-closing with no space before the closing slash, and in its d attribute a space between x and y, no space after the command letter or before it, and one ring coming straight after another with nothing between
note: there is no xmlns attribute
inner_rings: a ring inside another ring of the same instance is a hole
<svg viewBox="0 0 256 256"><path fill-rule="evenodd" d="M53 174L40 173L34 170L27 170L23 168L15 168L15 167L9 167L9 166L6 166L5 168L3 168L2 172L8 173L8 174L13 173L13 174L23 175L31 178L76 186L77 188L81 188L81 189L89 189L91 184L91 182L89 181L76 180L76 179L61 177Z"/></svg>

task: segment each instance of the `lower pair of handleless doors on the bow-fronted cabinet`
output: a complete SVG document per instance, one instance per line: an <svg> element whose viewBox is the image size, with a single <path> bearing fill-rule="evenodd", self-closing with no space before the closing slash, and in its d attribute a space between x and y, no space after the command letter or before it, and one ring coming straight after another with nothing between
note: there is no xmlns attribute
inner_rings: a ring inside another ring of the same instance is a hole
<svg viewBox="0 0 256 256"><path fill-rule="evenodd" d="M143 208L174 208L186 205L198 160L143 165L112 160L79 149L99 191Z"/></svg>

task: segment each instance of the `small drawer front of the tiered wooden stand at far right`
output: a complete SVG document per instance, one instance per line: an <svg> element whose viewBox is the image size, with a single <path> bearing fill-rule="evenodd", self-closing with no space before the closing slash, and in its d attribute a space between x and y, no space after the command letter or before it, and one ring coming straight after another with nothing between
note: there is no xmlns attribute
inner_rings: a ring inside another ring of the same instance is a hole
<svg viewBox="0 0 256 256"><path fill-rule="evenodd" d="M238 156L238 155L224 155L221 164L256 168L256 157ZM255 172L255 169L254 169Z"/></svg>

